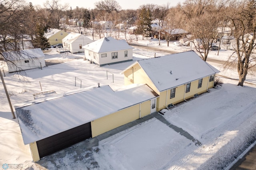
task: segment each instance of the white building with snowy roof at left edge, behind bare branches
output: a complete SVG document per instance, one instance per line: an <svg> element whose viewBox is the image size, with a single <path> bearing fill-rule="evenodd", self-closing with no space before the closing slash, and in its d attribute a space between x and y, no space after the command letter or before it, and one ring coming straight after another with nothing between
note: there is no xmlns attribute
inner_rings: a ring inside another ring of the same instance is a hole
<svg viewBox="0 0 256 170"><path fill-rule="evenodd" d="M2 58L0 61L8 68L9 73L46 66L44 53L40 48L4 52L2 55L5 59Z"/></svg>

